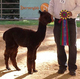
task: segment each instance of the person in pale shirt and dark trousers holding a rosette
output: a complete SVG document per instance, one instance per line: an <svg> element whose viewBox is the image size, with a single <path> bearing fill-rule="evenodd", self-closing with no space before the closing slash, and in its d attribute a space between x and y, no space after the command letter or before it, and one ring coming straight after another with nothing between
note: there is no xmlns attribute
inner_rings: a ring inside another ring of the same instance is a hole
<svg viewBox="0 0 80 79"><path fill-rule="evenodd" d="M69 25L69 34L70 34L70 45L69 47L69 59L67 65L67 56L65 52L65 46L60 45L60 32L61 32L61 23L60 20L60 11L67 10L69 17L67 18ZM57 57L59 64L59 74L63 74L68 66L69 74L74 76L76 75L76 59L77 59L77 47L76 47L76 22L75 19L80 13L80 0L50 0L48 12L55 18L54 20L54 37L57 46Z"/></svg>

